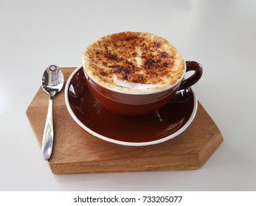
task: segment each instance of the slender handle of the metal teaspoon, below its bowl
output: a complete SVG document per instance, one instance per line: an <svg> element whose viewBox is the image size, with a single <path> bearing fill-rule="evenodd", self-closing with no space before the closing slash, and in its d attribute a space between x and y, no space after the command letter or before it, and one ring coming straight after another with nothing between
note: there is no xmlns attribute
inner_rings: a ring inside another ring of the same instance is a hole
<svg viewBox="0 0 256 206"><path fill-rule="evenodd" d="M48 112L46 117L46 124L44 127L42 150L41 150L44 160L49 160L49 157L51 157L51 154L52 154L53 135L54 135L53 116L52 116L53 99L54 99L54 95L50 95Z"/></svg>

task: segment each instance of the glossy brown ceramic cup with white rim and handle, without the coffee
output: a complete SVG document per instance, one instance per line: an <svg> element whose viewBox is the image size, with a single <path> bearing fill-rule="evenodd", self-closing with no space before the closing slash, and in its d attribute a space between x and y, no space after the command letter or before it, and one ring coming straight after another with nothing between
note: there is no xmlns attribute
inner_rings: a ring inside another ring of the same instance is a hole
<svg viewBox="0 0 256 206"><path fill-rule="evenodd" d="M163 107L175 95L177 90L190 88L201 78L202 67L195 61L187 61L184 64L181 77L175 84L163 90L152 90L151 92L129 93L125 91L114 90L95 81L83 69L86 82L92 95L108 110L124 116L142 116L153 113ZM83 62L83 67L85 63ZM184 79L187 71L194 71L194 74Z"/></svg>

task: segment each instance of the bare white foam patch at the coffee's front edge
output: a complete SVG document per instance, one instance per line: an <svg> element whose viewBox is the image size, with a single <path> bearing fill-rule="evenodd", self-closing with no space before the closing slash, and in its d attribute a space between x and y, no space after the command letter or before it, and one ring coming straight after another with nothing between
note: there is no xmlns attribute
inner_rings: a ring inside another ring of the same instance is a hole
<svg viewBox="0 0 256 206"><path fill-rule="evenodd" d="M119 79L117 76L113 77L114 84L120 86L122 88L130 88L136 90L145 90L151 88L158 88L160 84L141 84L141 83L134 83L128 82L126 80Z"/></svg>

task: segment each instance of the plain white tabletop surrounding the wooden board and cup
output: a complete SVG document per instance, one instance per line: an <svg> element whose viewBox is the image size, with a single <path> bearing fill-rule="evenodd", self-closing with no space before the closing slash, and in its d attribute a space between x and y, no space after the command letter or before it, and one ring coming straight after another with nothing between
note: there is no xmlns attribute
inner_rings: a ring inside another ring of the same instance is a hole
<svg viewBox="0 0 256 206"><path fill-rule="evenodd" d="M255 191L256 1L0 0L0 191ZM26 110L50 64L81 65L91 40L141 31L173 43L224 143L195 171L54 175Z"/></svg>

